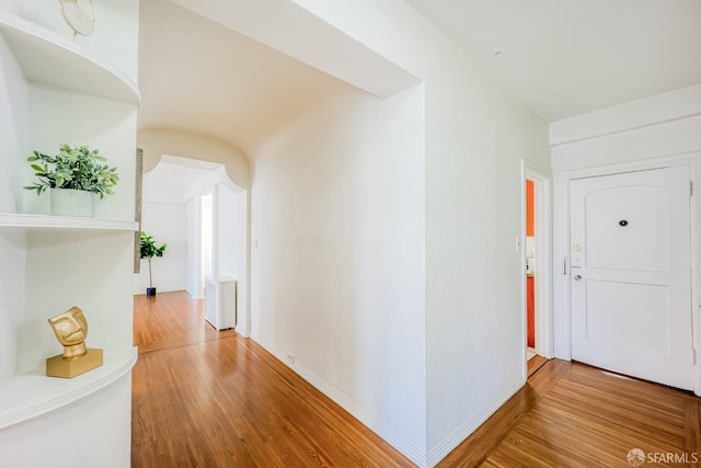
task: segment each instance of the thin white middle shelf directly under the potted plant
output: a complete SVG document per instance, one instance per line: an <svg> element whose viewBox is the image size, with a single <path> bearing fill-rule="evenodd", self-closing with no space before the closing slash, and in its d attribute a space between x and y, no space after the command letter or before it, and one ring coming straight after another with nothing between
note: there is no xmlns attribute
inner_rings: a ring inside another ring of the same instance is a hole
<svg viewBox="0 0 701 468"><path fill-rule="evenodd" d="M0 229L94 229L112 231L136 231L136 221L112 219L73 218L68 216L27 215L20 213L0 213Z"/></svg>

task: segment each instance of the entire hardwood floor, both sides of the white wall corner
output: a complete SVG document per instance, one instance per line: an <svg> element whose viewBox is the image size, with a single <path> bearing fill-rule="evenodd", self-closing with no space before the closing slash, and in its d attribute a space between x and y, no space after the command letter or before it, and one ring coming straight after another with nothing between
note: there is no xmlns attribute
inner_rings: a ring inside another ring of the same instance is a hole
<svg viewBox="0 0 701 468"><path fill-rule="evenodd" d="M207 326L202 306L135 297L133 467L413 466L256 343ZM439 467L630 467L633 448L654 457L643 467L699 467L693 395L558 359L529 374Z"/></svg>

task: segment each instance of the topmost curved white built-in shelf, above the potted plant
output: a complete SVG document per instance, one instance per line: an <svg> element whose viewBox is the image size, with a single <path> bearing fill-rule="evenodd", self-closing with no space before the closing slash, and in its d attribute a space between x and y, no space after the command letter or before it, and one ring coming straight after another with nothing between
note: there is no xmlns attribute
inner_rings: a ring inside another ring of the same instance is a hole
<svg viewBox="0 0 701 468"><path fill-rule="evenodd" d="M20 16L0 11L4 36L30 82L139 105L138 87L92 50Z"/></svg>

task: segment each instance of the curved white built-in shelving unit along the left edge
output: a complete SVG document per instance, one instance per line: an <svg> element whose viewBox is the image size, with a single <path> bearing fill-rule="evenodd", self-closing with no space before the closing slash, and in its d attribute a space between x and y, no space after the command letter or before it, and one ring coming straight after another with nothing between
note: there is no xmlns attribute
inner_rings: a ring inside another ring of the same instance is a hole
<svg viewBox="0 0 701 468"><path fill-rule="evenodd" d="M44 7L36 2L10 3L25 3L27 18L44 18ZM138 2L110 3L106 11L114 14L107 23L124 26L114 31L114 41L129 45L114 50L114 57L136 65L137 50L131 46L138 31ZM10 151L0 157L4 185L21 190L13 180L15 169L25 164L21 153L60 135L78 141L100 137L105 153L114 153L113 162L126 168L120 175L135 176L133 153L123 150L125 141L136 138L136 119L125 119L125 114L134 114L141 101L130 75L90 47L2 7L0 43L0 61L8 65L7 70L0 67L0 91L16 96L0 106L0 121L11 125L2 133ZM72 117L60 118L62 114ZM0 191L3 207L22 205L19 194L11 192ZM118 218L131 218L134 201L128 196L111 203L114 213L125 213ZM38 204L36 209L45 208ZM104 460L128 466L128 392L138 350L131 346L131 327L127 327L131 296L127 286L138 224L120 219L0 213L0 322L5 327L0 340L2 466L70 468L101 466ZM100 340L89 344L104 349L104 364L70 379L47 377L44 358L49 356L44 354L54 347L42 342L49 339L47 333L33 331L39 323L45 327L47 310L76 301L101 305L94 308L91 327L110 335L102 346Z"/></svg>

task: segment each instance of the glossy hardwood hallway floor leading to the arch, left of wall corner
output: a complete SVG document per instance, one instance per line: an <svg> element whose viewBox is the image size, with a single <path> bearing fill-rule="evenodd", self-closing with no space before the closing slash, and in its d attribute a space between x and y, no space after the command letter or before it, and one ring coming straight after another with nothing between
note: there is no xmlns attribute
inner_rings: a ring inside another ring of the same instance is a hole
<svg viewBox="0 0 701 468"><path fill-rule="evenodd" d="M410 467L347 412L184 293L135 297L133 467Z"/></svg>

